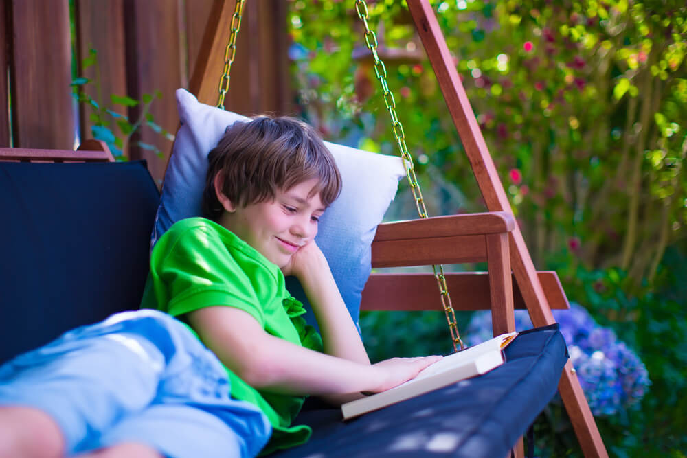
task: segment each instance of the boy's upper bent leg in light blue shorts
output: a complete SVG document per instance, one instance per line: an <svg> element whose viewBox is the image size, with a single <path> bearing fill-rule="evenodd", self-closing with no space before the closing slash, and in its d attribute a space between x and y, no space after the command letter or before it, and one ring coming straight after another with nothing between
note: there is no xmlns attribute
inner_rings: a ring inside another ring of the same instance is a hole
<svg viewBox="0 0 687 458"><path fill-rule="evenodd" d="M164 356L144 339L100 328L70 331L0 366L2 421L14 424L0 428L8 436L0 442L26 446L27 436L43 439L38 430L48 432L46 450L60 444L59 456L92 450L102 431L150 404ZM16 421L17 415L38 423Z"/></svg>

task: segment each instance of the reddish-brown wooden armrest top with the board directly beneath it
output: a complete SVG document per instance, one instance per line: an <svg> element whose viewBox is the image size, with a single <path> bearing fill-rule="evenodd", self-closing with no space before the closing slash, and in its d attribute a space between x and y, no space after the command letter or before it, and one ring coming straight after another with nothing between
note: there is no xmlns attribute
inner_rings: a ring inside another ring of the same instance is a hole
<svg viewBox="0 0 687 458"><path fill-rule="evenodd" d="M502 211L387 222L377 227L372 267L485 262L486 238L513 229L513 215Z"/></svg>

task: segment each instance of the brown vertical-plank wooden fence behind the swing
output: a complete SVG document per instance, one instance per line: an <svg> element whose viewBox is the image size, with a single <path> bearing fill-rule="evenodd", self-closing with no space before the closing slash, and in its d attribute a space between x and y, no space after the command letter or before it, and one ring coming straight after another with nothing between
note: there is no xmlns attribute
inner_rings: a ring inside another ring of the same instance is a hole
<svg viewBox="0 0 687 458"><path fill-rule="evenodd" d="M94 67L81 69L89 49L97 51L100 68L101 94L88 89L96 101L160 91L151 113L174 133L174 91L188 87L216 1L222 0L72 0L70 10L69 0L2 0L0 65L7 71L0 71L0 146L72 149L77 131L91 137L89 113L76 106L70 86L74 72L95 78ZM233 8L234 0L226 1ZM293 113L286 2L246 2L237 45L225 107L245 115ZM130 119L138 109L128 108ZM170 141L153 130L142 129L140 140L168 157ZM147 159L161 179L166 158L133 147L126 154Z"/></svg>

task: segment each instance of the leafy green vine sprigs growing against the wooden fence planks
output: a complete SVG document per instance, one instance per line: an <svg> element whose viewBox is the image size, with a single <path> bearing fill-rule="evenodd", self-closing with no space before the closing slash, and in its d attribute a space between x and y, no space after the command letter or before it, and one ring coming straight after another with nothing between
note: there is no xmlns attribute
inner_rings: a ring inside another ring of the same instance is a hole
<svg viewBox="0 0 687 458"><path fill-rule="evenodd" d="M130 145L138 146L144 150L155 152L158 157L163 157L163 153L155 145L146 144L142 141L131 141L132 136L142 126L147 126L155 133L162 135L166 139L173 141L174 135L161 128L155 123L153 115L150 114L150 105L155 99L162 97L159 91L155 94L144 94L141 100L135 100L128 95L110 95L110 104L105 106L103 104L102 90L100 87L100 68L98 67L98 53L95 49L89 50L89 55L82 61L82 69L89 67L95 68L95 79L89 80L82 76L77 76L72 80L71 86L74 87L74 98L78 102L85 104L89 110L89 119L93 126L91 126L91 135L94 139L104 141L115 155L117 160L126 161L124 151ZM93 88L92 91L87 90L89 85ZM96 101L91 93L98 94ZM118 106L118 108L115 108ZM132 106L140 106L137 119L133 122L129 119L126 113L128 108ZM120 110L120 111L117 111ZM118 130L118 133L117 133Z"/></svg>

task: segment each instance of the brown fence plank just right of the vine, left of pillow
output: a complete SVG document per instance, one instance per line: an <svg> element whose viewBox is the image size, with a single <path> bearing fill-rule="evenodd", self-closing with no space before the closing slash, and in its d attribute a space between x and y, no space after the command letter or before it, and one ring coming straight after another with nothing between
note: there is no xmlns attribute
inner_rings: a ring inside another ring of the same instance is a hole
<svg viewBox="0 0 687 458"><path fill-rule="evenodd" d="M179 51L179 3L167 0L127 2L127 78L130 95L140 98L144 93L160 91L162 98L153 102L150 113L155 122L170 132L179 124L174 91L181 86L181 54ZM138 106L131 108L133 119ZM157 146L169 154L171 143L150 128L142 128L139 140ZM166 158L142 148L131 148L131 159L146 159L148 170L156 183L161 183Z"/></svg>

